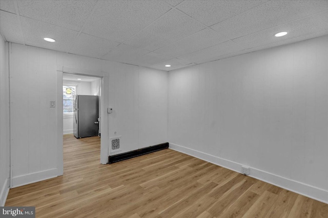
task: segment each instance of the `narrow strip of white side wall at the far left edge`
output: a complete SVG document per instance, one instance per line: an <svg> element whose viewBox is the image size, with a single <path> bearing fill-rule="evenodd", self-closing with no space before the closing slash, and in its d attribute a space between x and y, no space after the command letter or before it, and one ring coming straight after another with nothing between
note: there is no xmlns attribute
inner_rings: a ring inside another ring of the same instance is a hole
<svg viewBox="0 0 328 218"><path fill-rule="evenodd" d="M9 71L8 43L0 34L0 206L8 195L9 174Z"/></svg>

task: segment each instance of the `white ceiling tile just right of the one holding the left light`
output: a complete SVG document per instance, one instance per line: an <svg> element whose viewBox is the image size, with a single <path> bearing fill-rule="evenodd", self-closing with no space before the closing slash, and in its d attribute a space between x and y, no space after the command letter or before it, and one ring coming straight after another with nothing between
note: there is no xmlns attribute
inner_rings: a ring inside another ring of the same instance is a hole
<svg viewBox="0 0 328 218"><path fill-rule="evenodd" d="M69 53L100 58L118 45L119 43L105 38L81 33Z"/></svg>

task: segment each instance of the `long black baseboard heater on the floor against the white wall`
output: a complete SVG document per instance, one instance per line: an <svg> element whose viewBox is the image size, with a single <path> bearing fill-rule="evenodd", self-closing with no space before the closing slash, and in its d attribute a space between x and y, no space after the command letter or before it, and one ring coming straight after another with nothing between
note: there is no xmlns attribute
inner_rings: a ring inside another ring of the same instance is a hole
<svg viewBox="0 0 328 218"><path fill-rule="evenodd" d="M167 148L169 148L169 143L168 142L162 143L162 144L159 144L159 145L149 146L147 148L140 148L140 149L137 149L137 150L126 152L126 153L111 155L111 156L108 157L108 163L113 164L113 163L116 163L116 162L119 162L119 161L128 160L128 159L136 157L136 156L149 154L149 153L159 151L159 150L163 150L163 149L167 149Z"/></svg>

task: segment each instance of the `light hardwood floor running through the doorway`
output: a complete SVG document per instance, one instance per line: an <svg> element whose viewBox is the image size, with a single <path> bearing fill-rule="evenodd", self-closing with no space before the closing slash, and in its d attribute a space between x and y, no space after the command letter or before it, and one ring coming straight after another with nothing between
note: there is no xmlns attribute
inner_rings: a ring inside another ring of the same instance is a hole
<svg viewBox="0 0 328 218"><path fill-rule="evenodd" d="M64 136L64 175L9 191L36 217L328 217L328 205L170 149L100 165L100 140Z"/></svg>

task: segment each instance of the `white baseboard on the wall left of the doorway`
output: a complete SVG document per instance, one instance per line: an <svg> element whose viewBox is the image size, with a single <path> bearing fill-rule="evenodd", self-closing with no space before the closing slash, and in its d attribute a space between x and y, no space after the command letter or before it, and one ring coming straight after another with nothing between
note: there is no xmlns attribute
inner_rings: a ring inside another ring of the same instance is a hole
<svg viewBox="0 0 328 218"><path fill-rule="evenodd" d="M57 168L34 172L30 174L20 175L12 178L12 188L24 186L31 183L36 183L43 180L48 180L57 177Z"/></svg>

